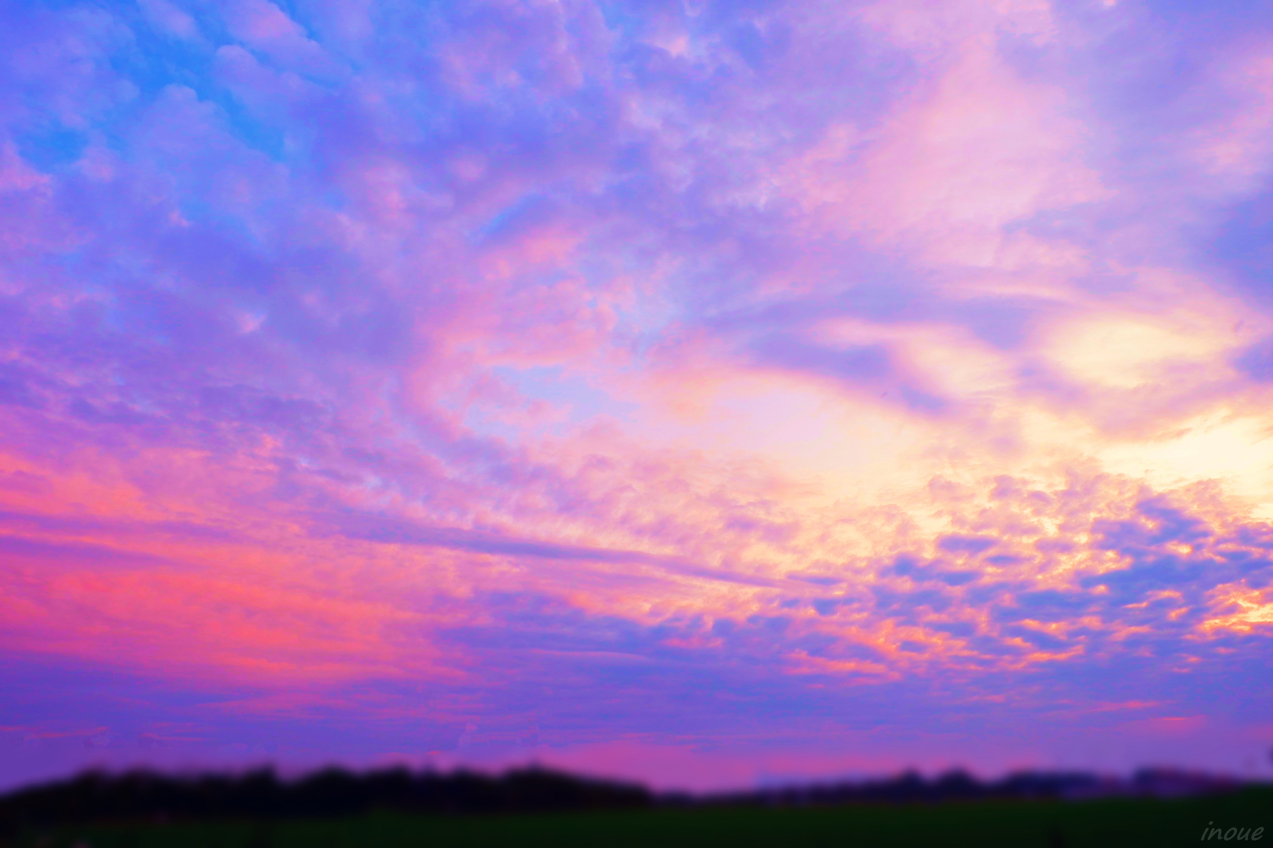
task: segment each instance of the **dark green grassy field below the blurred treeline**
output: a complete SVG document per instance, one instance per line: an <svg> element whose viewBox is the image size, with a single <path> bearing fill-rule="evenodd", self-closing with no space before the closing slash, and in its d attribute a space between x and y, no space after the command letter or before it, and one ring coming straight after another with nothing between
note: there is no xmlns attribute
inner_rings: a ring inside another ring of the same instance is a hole
<svg viewBox="0 0 1273 848"><path fill-rule="evenodd" d="M979 800L844 806L656 806L617 811L334 819L116 823L45 826L9 845L41 848L386 848L432 845L975 845L1161 848L1194 845L1212 826L1265 828L1273 787L1186 798ZM1211 839L1213 844L1221 842ZM1237 833L1230 844L1239 843ZM5 843L0 843L5 844Z"/></svg>

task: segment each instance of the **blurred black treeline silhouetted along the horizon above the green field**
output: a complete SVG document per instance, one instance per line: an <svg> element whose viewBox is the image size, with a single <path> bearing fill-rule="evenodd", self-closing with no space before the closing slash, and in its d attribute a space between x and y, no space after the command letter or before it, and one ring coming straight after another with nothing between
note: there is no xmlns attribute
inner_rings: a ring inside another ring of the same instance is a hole
<svg viewBox="0 0 1273 848"><path fill-rule="evenodd" d="M917 773L863 782L820 783L694 797L656 796L630 783L596 781L541 768L491 777L474 772L354 774L326 769L281 781L271 769L238 776L171 777L153 772L104 774L19 790L0 797L0 829L104 820L279 819L348 816L372 810L474 814L634 809L654 805L843 805L1083 798L1110 795L1179 796L1239 788L1231 779L1147 769L1130 779L1088 773L1011 774L978 781L965 772L932 779Z"/></svg>

